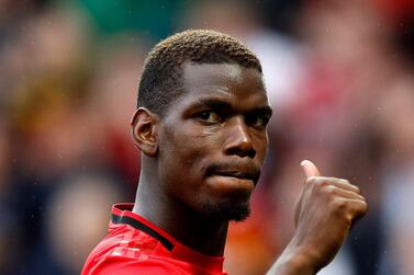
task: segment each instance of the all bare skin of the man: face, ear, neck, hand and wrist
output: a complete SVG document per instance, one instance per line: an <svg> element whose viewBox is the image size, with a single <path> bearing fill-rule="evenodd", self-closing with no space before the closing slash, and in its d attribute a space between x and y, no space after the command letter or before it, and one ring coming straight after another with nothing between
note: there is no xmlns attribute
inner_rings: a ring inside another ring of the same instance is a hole
<svg viewBox="0 0 414 275"><path fill-rule="evenodd" d="M133 211L193 250L221 256L228 220L248 214L271 108L261 73L238 65L187 62L182 89L164 117L142 107L132 119L143 152ZM302 165L296 232L269 274L315 274L367 210L348 181L322 177L310 161Z"/></svg>

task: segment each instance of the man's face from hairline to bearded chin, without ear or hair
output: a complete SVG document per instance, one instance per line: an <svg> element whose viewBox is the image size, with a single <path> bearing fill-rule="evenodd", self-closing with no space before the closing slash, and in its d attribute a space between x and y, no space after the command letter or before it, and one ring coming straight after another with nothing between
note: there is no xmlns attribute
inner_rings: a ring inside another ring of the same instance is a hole
<svg viewBox="0 0 414 275"><path fill-rule="evenodd" d="M205 216L242 220L268 145L271 108L261 73L233 64L186 64L183 91L159 122L163 187Z"/></svg>

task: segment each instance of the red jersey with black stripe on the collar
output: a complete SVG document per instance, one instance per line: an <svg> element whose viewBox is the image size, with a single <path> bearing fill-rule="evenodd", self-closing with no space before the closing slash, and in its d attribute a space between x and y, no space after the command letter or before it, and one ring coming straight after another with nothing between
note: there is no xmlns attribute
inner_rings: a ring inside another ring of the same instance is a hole
<svg viewBox="0 0 414 275"><path fill-rule="evenodd" d="M112 207L109 233L89 255L81 275L226 275L224 257L206 256L177 242L132 208L133 204Z"/></svg>

